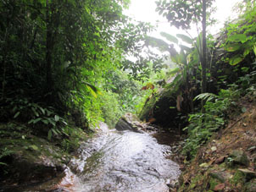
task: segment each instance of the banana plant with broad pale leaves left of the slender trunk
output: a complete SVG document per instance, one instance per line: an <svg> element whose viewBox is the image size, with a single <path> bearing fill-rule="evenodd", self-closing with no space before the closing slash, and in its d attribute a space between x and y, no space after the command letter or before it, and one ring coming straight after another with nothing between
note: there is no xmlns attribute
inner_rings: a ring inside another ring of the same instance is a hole
<svg viewBox="0 0 256 192"><path fill-rule="evenodd" d="M176 63L178 66L178 68L170 71L170 74L175 74L175 79L172 81L170 86L176 92L180 89L181 84L185 84L186 86L185 90L183 91L183 95L187 97L188 101L191 101L190 108L193 109L193 89L191 81L192 74L194 73L198 63L200 63L198 54L200 47L202 47L200 36L193 40L191 37L183 34L172 36L165 32L161 32L160 35L163 36L167 41L170 41L170 43L155 37L147 37L147 46L157 47L161 52L170 53L171 61ZM189 47L184 45L185 43L188 44ZM180 52L175 50L175 45L180 47Z"/></svg>

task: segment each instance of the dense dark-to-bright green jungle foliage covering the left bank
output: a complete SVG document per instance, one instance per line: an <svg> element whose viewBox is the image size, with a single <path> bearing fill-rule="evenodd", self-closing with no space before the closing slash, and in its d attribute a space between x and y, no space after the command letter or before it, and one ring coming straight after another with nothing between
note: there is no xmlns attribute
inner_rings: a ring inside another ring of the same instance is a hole
<svg viewBox="0 0 256 192"><path fill-rule="evenodd" d="M152 27L123 15L128 3L1 1L1 121L58 134L133 111L140 87L121 69Z"/></svg>

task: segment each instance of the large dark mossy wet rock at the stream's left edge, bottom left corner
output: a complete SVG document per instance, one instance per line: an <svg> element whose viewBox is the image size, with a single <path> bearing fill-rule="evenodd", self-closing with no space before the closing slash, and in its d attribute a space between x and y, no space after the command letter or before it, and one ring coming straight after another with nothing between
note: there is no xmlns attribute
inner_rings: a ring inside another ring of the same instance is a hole
<svg viewBox="0 0 256 192"><path fill-rule="evenodd" d="M0 191L21 191L21 186L44 182L64 171L63 162L67 162L68 157L47 140L13 140L13 143L12 153L3 159L8 167L4 177L0 172L0 182L3 182Z"/></svg>

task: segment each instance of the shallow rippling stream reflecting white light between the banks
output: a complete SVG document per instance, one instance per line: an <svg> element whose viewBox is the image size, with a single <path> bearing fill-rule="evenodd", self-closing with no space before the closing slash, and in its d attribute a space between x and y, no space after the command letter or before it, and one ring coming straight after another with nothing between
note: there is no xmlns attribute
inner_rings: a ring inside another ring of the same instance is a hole
<svg viewBox="0 0 256 192"><path fill-rule="evenodd" d="M178 164L166 158L170 150L151 134L117 131L101 123L97 136L81 145L51 191L167 192L180 175Z"/></svg>

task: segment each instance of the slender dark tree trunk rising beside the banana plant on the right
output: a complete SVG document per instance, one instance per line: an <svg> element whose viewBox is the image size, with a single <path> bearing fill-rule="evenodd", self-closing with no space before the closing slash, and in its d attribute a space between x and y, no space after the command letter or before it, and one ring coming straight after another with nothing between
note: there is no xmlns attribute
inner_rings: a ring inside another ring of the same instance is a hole
<svg viewBox="0 0 256 192"><path fill-rule="evenodd" d="M202 53L202 93L206 92L206 68L207 68L207 59L206 59L206 0L203 0L203 53ZM205 112L204 109L205 101L202 100L202 112Z"/></svg>

